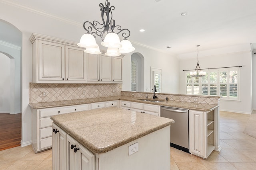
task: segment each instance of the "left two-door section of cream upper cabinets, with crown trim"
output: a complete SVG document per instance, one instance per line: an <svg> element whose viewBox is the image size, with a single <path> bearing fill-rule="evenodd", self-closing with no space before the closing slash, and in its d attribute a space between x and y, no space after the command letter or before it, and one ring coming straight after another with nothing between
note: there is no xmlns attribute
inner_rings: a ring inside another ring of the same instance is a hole
<svg viewBox="0 0 256 170"><path fill-rule="evenodd" d="M84 49L74 43L32 34L33 83L84 83Z"/></svg>

